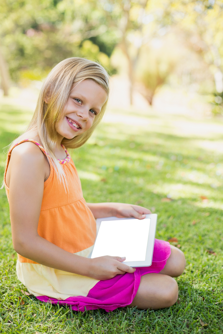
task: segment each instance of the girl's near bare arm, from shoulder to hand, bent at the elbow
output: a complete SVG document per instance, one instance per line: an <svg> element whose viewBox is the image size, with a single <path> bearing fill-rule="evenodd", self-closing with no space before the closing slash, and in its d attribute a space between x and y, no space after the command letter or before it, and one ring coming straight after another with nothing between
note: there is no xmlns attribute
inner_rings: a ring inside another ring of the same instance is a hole
<svg viewBox="0 0 223 334"><path fill-rule="evenodd" d="M38 235L46 163L35 144L26 142L13 149L7 174L12 241L18 254L47 267L98 280L135 271L122 263L125 259L84 258L66 252Z"/></svg>

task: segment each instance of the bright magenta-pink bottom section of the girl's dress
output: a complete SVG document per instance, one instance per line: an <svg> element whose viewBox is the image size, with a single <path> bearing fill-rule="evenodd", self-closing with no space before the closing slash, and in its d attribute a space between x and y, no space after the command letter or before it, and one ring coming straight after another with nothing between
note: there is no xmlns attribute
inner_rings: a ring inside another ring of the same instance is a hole
<svg viewBox="0 0 223 334"><path fill-rule="evenodd" d="M88 293L87 297L74 296L65 300L57 300L47 296L36 297L42 302L68 305L74 311L104 309L107 312L132 303L143 275L159 273L171 255L170 243L155 239L152 265L136 268L132 274L117 275L110 280L98 282Z"/></svg>

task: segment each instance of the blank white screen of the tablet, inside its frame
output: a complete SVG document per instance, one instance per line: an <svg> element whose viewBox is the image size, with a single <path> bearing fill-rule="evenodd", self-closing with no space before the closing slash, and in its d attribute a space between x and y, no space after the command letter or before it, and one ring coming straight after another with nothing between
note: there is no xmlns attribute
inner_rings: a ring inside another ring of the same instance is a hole
<svg viewBox="0 0 223 334"><path fill-rule="evenodd" d="M126 256L126 261L144 261L150 219L102 221L92 258Z"/></svg>

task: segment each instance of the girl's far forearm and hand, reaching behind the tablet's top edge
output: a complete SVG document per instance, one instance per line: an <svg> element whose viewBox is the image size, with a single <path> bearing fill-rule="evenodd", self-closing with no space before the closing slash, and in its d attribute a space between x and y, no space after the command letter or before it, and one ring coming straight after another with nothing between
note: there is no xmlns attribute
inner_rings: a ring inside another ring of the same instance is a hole
<svg viewBox="0 0 223 334"><path fill-rule="evenodd" d="M95 218L115 216L145 219L145 215L151 213L149 209L142 206L125 203L87 203L87 205Z"/></svg>

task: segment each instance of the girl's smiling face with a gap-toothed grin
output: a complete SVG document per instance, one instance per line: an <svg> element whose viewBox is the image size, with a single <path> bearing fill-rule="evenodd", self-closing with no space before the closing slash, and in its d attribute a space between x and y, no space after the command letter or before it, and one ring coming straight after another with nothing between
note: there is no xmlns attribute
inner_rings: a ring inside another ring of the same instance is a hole
<svg viewBox="0 0 223 334"><path fill-rule="evenodd" d="M106 91L95 81L86 79L75 84L58 123L60 137L72 139L90 129L106 100Z"/></svg>

